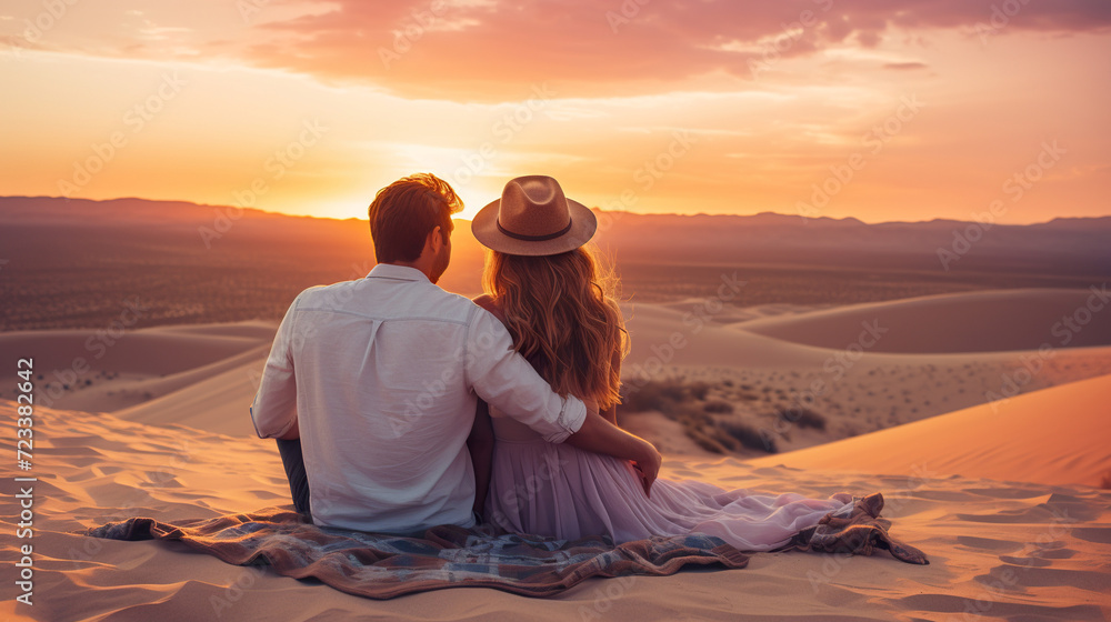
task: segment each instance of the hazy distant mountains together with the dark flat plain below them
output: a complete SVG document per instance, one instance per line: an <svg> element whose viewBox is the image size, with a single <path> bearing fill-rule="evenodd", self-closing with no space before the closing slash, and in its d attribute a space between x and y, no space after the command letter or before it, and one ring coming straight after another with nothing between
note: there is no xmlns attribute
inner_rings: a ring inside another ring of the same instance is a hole
<svg viewBox="0 0 1111 622"><path fill-rule="evenodd" d="M720 278L747 280L740 305L847 304L1005 288L1081 288L1111 277L1111 218L1031 225L952 220L867 224L799 215L595 211L594 241L624 295L683 301ZM440 284L481 291L486 250L457 221ZM373 267L360 219L292 217L181 201L0 198L0 330L99 327L121 300L147 323L280 318L306 287Z"/></svg>

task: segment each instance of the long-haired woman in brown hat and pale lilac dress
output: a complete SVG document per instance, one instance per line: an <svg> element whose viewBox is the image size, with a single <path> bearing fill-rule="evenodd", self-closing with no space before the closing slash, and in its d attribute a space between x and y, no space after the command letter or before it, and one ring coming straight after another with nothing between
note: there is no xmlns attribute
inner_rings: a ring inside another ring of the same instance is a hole
<svg viewBox="0 0 1111 622"><path fill-rule="evenodd" d="M474 237L491 250L476 300L506 324L514 347L563 395L573 394L617 423L628 333L614 300L615 279L584 244L593 213L543 175L511 180L499 201L476 215ZM480 404L476 430L486 422ZM852 498L724 491L698 481L657 480L650 495L624 461L546 442L490 409L492 465L476 455L479 488L489 473L487 520L508 531L560 539L608 534L614 542L691 532L744 551L769 551L814 526Z"/></svg>

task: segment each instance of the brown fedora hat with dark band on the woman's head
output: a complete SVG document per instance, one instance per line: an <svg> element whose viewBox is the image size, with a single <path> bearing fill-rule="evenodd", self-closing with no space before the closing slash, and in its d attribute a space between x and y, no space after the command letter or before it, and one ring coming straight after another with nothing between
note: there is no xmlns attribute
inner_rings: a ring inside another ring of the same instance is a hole
<svg viewBox="0 0 1111 622"><path fill-rule="evenodd" d="M585 244L598 229L594 212L563 195L548 175L509 180L501 199L491 201L471 221L474 238L506 254L546 255Z"/></svg>

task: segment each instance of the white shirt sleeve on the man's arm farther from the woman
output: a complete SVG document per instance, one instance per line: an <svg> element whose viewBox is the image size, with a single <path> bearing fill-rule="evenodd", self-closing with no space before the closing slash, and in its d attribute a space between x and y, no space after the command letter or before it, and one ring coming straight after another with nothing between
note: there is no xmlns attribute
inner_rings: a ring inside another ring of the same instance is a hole
<svg viewBox="0 0 1111 622"><path fill-rule="evenodd" d="M293 378L293 323L298 297L278 327L259 391L251 403L251 421L261 439L284 434L297 421L297 381Z"/></svg>

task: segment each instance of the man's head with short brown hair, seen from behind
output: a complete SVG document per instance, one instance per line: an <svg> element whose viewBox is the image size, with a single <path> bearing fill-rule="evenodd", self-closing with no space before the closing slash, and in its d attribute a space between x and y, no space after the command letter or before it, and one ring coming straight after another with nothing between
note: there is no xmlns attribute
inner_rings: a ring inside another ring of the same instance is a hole
<svg viewBox="0 0 1111 622"><path fill-rule="evenodd" d="M432 173L411 174L379 190L368 211L377 261L416 261L428 234L439 227L447 239L451 214L462 209L451 185Z"/></svg>

